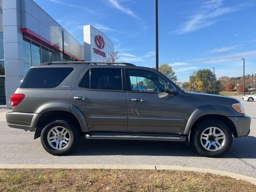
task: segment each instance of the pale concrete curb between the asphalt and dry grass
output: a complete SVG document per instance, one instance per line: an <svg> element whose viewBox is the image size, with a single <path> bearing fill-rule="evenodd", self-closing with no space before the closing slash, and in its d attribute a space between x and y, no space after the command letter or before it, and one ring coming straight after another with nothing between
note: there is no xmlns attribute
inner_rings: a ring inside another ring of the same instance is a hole
<svg viewBox="0 0 256 192"><path fill-rule="evenodd" d="M170 165L105 165L105 164L0 164L0 169L135 169L135 170L175 170L193 171L201 173L212 173L222 176L229 176L236 179L245 180L256 185L256 178L235 174L226 171L211 169L170 166Z"/></svg>

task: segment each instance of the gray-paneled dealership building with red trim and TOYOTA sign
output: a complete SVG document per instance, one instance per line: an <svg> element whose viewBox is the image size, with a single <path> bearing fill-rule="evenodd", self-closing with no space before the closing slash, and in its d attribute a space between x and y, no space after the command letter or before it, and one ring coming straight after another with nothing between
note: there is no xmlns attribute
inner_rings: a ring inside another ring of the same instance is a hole
<svg viewBox="0 0 256 192"><path fill-rule="evenodd" d="M31 66L49 61L106 61L112 41L91 25L80 44L33 0L0 0L0 106Z"/></svg>

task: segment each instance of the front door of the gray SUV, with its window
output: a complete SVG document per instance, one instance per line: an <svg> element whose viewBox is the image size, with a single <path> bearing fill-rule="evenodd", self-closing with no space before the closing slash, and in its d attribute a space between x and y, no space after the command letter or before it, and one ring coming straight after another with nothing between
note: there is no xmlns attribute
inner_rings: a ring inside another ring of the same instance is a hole
<svg viewBox="0 0 256 192"><path fill-rule="evenodd" d="M186 123L186 103L180 90L167 94L167 82L148 70L127 69L128 133L182 134Z"/></svg>

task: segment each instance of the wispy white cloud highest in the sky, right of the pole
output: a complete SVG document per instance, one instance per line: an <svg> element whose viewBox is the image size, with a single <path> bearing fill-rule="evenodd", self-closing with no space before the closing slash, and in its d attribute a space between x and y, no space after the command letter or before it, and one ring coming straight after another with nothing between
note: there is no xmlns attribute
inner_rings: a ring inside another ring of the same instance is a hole
<svg viewBox="0 0 256 192"><path fill-rule="evenodd" d="M180 25L174 34L185 34L196 30L200 30L219 22L218 17L239 10L244 4L239 4L235 7L221 7L223 0L210 0L202 4L197 14Z"/></svg>

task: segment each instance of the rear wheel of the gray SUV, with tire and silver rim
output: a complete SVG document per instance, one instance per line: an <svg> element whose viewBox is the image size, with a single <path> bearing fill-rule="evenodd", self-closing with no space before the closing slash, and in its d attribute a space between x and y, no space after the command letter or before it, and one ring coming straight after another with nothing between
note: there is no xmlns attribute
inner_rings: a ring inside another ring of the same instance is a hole
<svg viewBox="0 0 256 192"><path fill-rule="evenodd" d="M41 132L42 146L48 153L56 156L69 154L76 148L79 141L78 129L65 120L49 122Z"/></svg>

